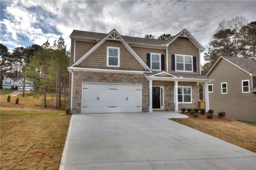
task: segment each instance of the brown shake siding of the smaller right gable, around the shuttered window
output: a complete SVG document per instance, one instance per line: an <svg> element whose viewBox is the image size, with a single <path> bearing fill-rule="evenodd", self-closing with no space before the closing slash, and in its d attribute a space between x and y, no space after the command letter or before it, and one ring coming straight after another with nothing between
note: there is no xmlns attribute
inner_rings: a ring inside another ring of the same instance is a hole
<svg viewBox="0 0 256 170"><path fill-rule="evenodd" d="M196 72L175 72L172 70L172 54L184 54L196 56ZM199 50L188 39L179 37L173 41L168 47L168 72L169 73L185 73L185 74L199 74Z"/></svg>

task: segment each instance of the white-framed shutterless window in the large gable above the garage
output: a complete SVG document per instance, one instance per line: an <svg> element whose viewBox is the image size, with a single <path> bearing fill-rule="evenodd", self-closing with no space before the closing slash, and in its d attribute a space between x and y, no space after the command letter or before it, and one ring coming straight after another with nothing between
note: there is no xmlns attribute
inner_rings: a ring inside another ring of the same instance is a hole
<svg viewBox="0 0 256 170"><path fill-rule="evenodd" d="M120 48L107 47L107 66L120 67Z"/></svg>

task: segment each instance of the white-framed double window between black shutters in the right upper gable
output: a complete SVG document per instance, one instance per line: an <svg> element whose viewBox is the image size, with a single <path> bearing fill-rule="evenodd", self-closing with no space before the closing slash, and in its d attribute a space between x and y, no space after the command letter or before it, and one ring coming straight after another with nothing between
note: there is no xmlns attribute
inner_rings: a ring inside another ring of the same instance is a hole
<svg viewBox="0 0 256 170"><path fill-rule="evenodd" d="M193 72L193 56L175 54L175 71Z"/></svg>

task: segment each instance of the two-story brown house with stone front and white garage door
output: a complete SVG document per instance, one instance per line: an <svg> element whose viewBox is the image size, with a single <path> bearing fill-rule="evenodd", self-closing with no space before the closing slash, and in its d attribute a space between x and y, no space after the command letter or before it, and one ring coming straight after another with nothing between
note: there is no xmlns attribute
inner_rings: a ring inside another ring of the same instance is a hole
<svg viewBox="0 0 256 170"><path fill-rule="evenodd" d="M73 114L178 111L198 108L205 49L186 30L168 41L73 30L70 107ZM206 110L208 92L206 90Z"/></svg>

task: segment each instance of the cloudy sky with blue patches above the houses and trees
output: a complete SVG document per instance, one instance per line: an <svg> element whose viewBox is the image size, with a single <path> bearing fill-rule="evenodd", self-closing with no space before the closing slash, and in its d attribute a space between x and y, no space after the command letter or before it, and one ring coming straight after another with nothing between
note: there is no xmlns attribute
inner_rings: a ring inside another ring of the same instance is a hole
<svg viewBox="0 0 256 170"><path fill-rule="evenodd" d="M218 22L244 15L256 20L256 1L1 1L1 43L9 49L51 43L68 49L73 29L155 37L186 28L206 47Z"/></svg>

